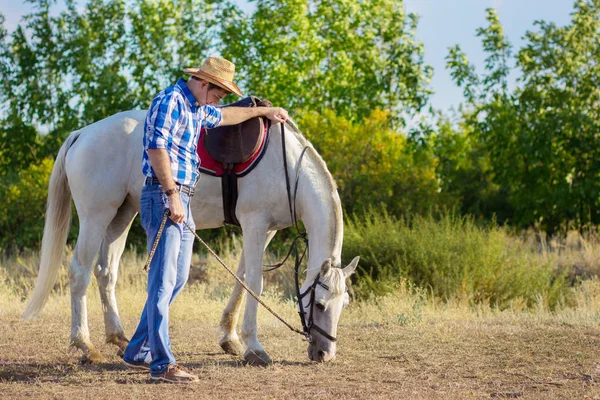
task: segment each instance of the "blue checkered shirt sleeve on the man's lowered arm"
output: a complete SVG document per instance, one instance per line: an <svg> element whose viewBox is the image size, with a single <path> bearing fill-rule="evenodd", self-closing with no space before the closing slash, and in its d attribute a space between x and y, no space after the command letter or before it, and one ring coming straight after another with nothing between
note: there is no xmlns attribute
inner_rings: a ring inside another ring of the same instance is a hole
<svg viewBox="0 0 600 400"><path fill-rule="evenodd" d="M173 133L178 129L179 117L182 115L181 98L174 93L166 94L153 107L148 120L146 139L148 149L165 149L173 140Z"/></svg>

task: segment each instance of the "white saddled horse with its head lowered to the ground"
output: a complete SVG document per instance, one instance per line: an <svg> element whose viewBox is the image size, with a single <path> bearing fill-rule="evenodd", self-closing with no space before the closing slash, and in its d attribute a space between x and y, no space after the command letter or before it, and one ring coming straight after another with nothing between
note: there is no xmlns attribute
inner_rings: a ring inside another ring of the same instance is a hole
<svg viewBox="0 0 600 400"><path fill-rule="evenodd" d="M71 345L82 350L82 361L85 362L103 360L90 341L87 323L86 290L92 271L100 289L106 341L121 350L128 343L119 319L115 285L127 233L139 211L144 182L141 161L145 114L145 111L122 112L73 132L60 148L50 178L40 270L24 317L32 318L41 311L54 285L70 225L73 199L79 216L79 237L69 266ZM248 286L259 295L263 286L264 249L277 230L292 224L280 132L279 124L271 127L270 143L262 161L250 174L238 180L236 216L243 231L243 251L237 275L245 276ZM306 320L311 319L314 326L326 333L311 332L313 340L308 346L308 356L315 361L328 361L335 357L336 344L327 336L336 336L342 308L348 302L345 278L356 269L358 257L344 269L336 268L341 264L343 221L335 182L323 159L293 123L286 125L286 132L286 157L292 178L296 176L301 151L308 146L295 195L298 217L310 239L302 292L313 287L316 308L309 307L311 296L302 301L308 310ZM192 198L192 210L197 229L223 225L220 178L201 176ZM94 262L98 252L98 260ZM323 286L313 285L317 276ZM222 314L220 326L224 336L219 344L228 353L243 353L250 363L270 363L271 359L258 340L258 303L253 298L246 302L242 324L245 351L236 332L244 294L241 285L236 283Z"/></svg>

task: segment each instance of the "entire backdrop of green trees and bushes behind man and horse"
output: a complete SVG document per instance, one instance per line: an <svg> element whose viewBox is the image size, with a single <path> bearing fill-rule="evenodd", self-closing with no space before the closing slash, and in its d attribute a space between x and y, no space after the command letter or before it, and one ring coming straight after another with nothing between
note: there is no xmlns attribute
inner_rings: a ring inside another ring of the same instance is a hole
<svg viewBox="0 0 600 400"><path fill-rule="evenodd" d="M354 215L344 256L362 256L361 290L406 278L501 308L566 296L563 276L508 231L414 215L453 209L550 232L600 222L600 1L576 2L565 27L537 22L516 52L489 10L477 30L485 71L459 46L447 57L462 119L408 134L399 128L423 118L432 69L402 1L258 0L251 16L227 0L65 0L60 13L30 3L10 35L0 14L0 246L39 245L48 157L69 132L146 108L210 51L237 64L245 91L299 116ZM380 208L389 214L358 217ZM138 222L130 238L145 247Z"/></svg>

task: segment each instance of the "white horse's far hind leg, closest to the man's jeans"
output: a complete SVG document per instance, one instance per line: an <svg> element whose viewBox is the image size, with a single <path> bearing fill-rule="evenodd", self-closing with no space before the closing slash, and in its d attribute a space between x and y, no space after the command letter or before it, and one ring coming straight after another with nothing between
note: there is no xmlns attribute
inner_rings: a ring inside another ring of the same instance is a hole
<svg viewBox="0 0 600 400"><path fill-rule="evenodd" d="M100 246L98 266L94 275L98 282L102 312L104 314L104 329L106 343L114 344L119 348L118 355L122 356L129 340L125 336L115 295L119 261L125 250L127 234L137 211L129 202L123 203L117 215L112 220L106 231L106 236Z"/></svg>

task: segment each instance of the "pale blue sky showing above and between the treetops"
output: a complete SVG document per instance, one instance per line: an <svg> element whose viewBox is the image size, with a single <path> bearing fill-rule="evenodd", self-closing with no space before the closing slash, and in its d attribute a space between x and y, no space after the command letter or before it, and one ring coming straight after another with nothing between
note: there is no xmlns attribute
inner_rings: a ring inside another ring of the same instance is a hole
<svg viewBox="0 0 600 400"><path fill-rule="evenodd" d="M405 9L420 16L417 38L425 46L425 62L434 68L433 107L447 111L457 107L463 98L462 90L446 70L445 57L450 46L460 44L477 71L483 70L485 54L475 31L486 25L487 8L498 11L508 40L518 49L525 32L534 29L534 21L567 24L573 3L573 0L404 0ZM248 1L239 1L239 5L247 12L254 8ZM0 12L6 17L5 28L9 32L31 10L31 4L22 0L0 0Z"/></svg>

